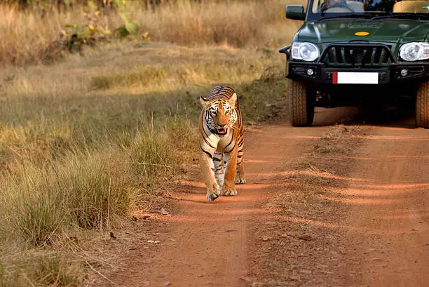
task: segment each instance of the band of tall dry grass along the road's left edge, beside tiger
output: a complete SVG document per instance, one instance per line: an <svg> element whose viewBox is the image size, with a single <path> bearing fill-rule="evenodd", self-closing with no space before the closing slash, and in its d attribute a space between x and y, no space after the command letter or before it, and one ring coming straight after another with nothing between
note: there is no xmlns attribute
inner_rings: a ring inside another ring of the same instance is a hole
<svg viewBox="0 0 429 287"><path fill-rule="evenodd" d="M76 147L43 162L22 156L8 163L0 177L0 239L49 246L69 230L111 227L145 186L171 180L180 152L191 148L190 133L190 121L172 116L144 122L97 150Z"/></svg>

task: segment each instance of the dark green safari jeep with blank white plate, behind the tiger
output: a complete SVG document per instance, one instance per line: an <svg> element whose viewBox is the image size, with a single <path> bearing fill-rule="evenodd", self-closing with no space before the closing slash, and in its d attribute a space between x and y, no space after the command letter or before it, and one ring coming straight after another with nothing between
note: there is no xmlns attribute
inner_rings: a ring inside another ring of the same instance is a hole
<svg viewBox="0 0 429 287"><path fill-rule="evenodd" d="M293 126L314 107L413 101L429 128L429 0L308 0L286 6L304 20L286 54Z"/></svg>

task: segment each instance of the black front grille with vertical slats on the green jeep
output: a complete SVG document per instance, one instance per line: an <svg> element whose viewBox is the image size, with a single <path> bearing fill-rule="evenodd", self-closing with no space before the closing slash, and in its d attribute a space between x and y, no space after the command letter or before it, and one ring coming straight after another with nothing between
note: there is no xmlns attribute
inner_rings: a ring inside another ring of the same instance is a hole
<svg viewBox="0 0 429 287"><path fill-rule="evenodd" d="M319 62L324 62L327 67L388 67L395 62L390 48L382 44L332 44L320 55Z"/></svg>

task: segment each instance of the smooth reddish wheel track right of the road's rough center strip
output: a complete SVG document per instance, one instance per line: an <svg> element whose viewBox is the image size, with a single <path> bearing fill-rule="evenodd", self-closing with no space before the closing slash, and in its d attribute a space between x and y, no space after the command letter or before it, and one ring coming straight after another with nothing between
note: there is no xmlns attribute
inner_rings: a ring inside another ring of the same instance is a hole
<svg viewBox="0 0 429 287"><path fill-rule="evenodd" d="M373 128L336 201L356 246L362 286L429 286L429 135L427 130Z"/></svg>

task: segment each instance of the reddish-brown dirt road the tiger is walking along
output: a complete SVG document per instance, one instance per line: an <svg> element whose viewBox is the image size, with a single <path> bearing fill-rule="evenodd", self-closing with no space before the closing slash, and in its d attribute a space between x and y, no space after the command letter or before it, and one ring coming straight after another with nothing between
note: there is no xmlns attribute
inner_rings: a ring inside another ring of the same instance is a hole
<svg viewBox="0 0 429 287"><path fill-rule="evenodd" d="M328 126L354 113L248 128L238 196L207 203L193 167L91 286L429 286L429 133Z"/></svg>

